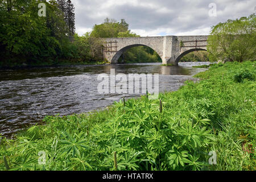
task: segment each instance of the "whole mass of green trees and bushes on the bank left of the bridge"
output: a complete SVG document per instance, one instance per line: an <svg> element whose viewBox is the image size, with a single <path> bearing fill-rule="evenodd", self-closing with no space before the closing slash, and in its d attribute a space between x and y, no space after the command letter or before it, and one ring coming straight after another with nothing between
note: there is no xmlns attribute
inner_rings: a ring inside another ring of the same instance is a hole
<svg viewBox="0 0 256 182"><path fill-rule="evenodd" d="M0 67L52 64L100 64L100 40L73 35L71 1L49 1L46 17L38 16L36 0L0 2ZM123 22L125 24L125 22ZM73 36L73 42L69 36Z"/></svg>

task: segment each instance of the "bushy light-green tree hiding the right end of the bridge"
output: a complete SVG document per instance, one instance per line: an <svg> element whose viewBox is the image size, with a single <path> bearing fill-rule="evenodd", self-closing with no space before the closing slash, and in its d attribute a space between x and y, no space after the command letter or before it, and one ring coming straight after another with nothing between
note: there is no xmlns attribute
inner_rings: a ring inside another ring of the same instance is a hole
<svg viewBox="0 0 256 182"><path fill-rule="evenodd" d="M212 27L208 51L212 61L245 61L256 59L256 16L252 14L228 20Z"/></svg>

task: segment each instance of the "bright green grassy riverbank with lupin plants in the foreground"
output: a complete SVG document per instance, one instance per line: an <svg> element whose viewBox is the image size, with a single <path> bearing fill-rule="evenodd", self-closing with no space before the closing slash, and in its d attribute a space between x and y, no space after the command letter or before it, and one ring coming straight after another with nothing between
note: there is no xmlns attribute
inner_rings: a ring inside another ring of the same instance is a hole
<svg viewBox="0 0 256 182"><path fill-rule="evenodd" d="M48 116L46 125L1 139L0 169L114 170L115 153L118 170L256 170L255 61L214 64L196 77L161 101L142 96L90 114Z"/></svg>

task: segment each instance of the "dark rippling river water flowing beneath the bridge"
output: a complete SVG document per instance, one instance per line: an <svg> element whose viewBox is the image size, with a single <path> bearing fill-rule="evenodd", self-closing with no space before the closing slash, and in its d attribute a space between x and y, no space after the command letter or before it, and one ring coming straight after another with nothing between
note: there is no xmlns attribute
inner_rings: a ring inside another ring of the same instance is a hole
<svg viewBox="0 0 256 182"><path fill-rule="evenodd" d="M159 92L179 89L186 80L205 68L192 68L204 63L179 63L163 67L160 63L79 65L0 70L0 134L14 133L35 123L46 115L69 115L102 109L123 97L140 94L100 94L97 86L101 73L158 73Z"/></svg>

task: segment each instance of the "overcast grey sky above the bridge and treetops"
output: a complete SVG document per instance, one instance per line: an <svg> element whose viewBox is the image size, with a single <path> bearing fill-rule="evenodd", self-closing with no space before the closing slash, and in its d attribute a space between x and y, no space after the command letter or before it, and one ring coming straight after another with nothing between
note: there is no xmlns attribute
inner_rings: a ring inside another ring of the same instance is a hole
<svg viewBox="0 0 256 182"><path fill-rule="evenodd" d="M210 27L256 13L255 0L72 0L76 31L92 31L106 17L125 19L141 36L208 35ZM216 14L214 14L216 5ZM210 14L210 15L209 15Z"/></svg>

